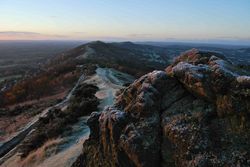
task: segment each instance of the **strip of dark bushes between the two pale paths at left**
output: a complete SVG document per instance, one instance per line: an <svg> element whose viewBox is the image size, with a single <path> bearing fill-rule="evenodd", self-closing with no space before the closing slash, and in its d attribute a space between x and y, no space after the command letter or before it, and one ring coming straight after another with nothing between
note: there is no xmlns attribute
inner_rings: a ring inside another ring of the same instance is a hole
<svg viewBox="0 0 250 167"><path fill-rule="evenodd" d="M57 138L81 116L88 115L97 110L99 104L95 93L96 86L90 84L79 85L70 99L70 105L65 111L51 110L44 118L40 118L39 124L19 147L21 157L25 158L30 152L42 146L46 141Z"/></svg>

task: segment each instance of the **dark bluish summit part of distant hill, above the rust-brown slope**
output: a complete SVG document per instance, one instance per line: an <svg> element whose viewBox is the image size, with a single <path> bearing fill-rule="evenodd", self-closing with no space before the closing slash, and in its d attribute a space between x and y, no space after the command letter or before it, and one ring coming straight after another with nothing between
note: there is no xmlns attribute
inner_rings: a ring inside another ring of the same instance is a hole
<svg viewBox="0 0 250 167"><path fill-rule="evenodd" d="M98 64L141 76L154 69L164 69L169 64L169 57L166 49L156 46L95 41L56 56L49 66L71 63Z"/></svg>

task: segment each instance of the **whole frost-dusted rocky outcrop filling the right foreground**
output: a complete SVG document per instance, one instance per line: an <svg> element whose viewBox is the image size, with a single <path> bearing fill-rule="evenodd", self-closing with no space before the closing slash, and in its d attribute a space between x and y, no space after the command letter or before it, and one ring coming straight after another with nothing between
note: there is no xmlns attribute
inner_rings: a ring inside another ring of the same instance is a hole
<svg viewBox="0 0 250 167"><path fill-rule="evenodd" d="M73 166L249 166L249 77L218 56L187 52L92 113Z"/></svg>

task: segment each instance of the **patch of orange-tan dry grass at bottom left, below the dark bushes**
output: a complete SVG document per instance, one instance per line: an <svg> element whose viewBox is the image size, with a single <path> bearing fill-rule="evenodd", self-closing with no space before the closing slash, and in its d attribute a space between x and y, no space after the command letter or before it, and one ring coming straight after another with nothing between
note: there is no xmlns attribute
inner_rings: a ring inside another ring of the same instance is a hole
<svg viewBox="0 0 250 167"><path fill-rule="evenodd" d="M21 167L33 167L41 163L47 157L53 155L57 151L57 145L61 142L61 139L50 139L44 145L34 152L30 153L20 163Z"/></svg>

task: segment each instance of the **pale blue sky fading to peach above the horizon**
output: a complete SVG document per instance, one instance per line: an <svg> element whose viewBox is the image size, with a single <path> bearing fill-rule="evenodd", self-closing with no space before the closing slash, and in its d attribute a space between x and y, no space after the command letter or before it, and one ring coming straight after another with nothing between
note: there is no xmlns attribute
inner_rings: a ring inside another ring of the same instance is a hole
<svg viewBox="0 0 250 167"><path fill-rule="evenodd" d="M250 44L250 0L0 0L0 40Z"/></svg>

